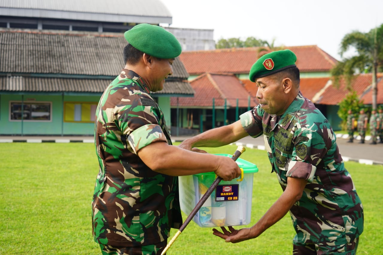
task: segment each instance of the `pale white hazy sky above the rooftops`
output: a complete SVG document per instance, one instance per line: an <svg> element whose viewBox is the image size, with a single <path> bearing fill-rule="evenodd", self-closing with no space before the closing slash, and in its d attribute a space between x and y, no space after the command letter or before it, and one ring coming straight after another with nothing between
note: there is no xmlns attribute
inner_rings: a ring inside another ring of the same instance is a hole
<svg viewBox="0 0 383 255"><path fill-rule="evenodd" d="M383 23L383 0L160 1L172 13L171 27L214 29L215 41L253 36L276 46L318 45L338 60L345 34Z"/></svg>

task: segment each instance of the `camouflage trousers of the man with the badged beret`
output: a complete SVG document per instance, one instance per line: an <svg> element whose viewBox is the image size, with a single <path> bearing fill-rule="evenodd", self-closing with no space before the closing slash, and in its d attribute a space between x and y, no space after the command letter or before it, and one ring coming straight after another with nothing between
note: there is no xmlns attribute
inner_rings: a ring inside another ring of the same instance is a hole
<svg viewBox="0 0 383 255"><path fill-rule="evenodd" d="M318 245L314 243L294 244L293 255L355 255L357 253L359 237L354 242L342 245Z"/></svg>

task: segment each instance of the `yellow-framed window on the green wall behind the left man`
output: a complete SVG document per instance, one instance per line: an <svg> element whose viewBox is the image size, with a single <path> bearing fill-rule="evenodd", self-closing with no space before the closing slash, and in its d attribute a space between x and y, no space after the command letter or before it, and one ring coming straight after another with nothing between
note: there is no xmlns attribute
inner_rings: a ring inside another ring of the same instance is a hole
<svg viewBox="0 0 383 255"><path fill-rule="evenodd" d="M64 122L94 122L97 103L64 102Z"/></svg>

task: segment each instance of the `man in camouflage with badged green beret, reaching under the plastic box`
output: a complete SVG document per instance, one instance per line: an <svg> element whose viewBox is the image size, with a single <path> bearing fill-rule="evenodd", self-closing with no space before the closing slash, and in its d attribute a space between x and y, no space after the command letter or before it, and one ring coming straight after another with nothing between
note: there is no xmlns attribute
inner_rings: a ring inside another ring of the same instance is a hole
<svg viewBox="0 0 383 255"><path fill-rule="evenodd" d="M258 237L290 211L296 235L293 254L355 254L363 232L363 206L339 154L327 119L299 88L296 56L270 52L250 70L259 105L240 120L183 141L180 146L216 147L263 134L283 193L252 227L213 234L237 243ZM218 141L221 141L220 143Z"/></svg>

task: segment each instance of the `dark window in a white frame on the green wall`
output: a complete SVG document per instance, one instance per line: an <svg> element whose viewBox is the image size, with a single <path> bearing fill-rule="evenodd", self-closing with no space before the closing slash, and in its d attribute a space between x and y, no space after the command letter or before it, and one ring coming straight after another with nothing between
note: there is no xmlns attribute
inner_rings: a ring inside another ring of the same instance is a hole
<svg viewBox="0 0 383 255"><path fill-rule="evenodd" d="M51 102L10 102L11 121L51 121Z"/></svg>

